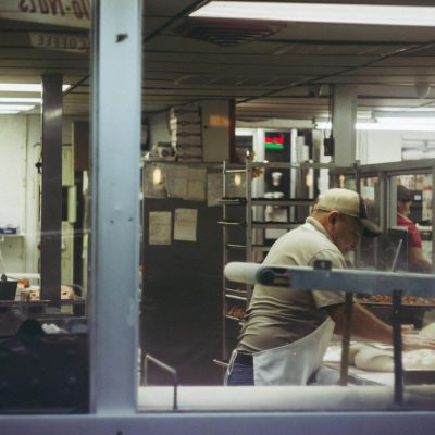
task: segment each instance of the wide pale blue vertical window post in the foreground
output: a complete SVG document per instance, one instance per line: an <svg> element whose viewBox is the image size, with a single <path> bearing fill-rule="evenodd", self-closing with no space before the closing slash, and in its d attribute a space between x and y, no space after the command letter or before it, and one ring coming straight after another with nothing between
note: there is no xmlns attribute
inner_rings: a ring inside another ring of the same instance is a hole
<svg viewBox="0 0 435 435"><path fill-rule="evenodd" d="M92 1L90 408L98 414L136 411L141 3Z"/></svg>

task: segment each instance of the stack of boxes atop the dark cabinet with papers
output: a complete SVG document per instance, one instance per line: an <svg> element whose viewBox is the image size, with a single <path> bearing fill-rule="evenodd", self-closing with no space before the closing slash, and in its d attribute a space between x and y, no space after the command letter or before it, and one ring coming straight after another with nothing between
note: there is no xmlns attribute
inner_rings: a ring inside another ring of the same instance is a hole
<svg viewBox="0 0 435 435"><path fill-rule="evenodd" d="M202 162L201 114L198 105L170 110L171 145L178 162Z"/></svg>

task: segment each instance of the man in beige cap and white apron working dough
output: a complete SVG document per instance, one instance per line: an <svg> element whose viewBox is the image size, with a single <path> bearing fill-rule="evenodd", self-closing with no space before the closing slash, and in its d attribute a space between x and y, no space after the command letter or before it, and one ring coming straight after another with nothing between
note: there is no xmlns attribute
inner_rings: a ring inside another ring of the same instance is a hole
<svg viewBox="0 0 435 435"><path fill-rule="evenodd" d="M328 260L346 268L345 256L360 236L381 229L366 219L361 197L348 189L319 196L306 223L278 238L263 264L312 266ZM291 290L257 284L233 351L227 385L304 385L320 368L333 332L344 325L343 293ZM355 336L391 343L391 327L358 303L353 304Z"/></svg>

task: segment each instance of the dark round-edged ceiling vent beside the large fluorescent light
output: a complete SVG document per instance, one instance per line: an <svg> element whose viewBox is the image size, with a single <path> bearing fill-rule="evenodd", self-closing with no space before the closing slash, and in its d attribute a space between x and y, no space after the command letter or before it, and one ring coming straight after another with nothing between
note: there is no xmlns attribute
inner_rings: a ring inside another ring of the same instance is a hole
<svg viewBox="0 0 435 435"><path fill-rule="evenodd" d="M229 47L265 38L286 25L287 23L284 22L257 23L245 20L186 18L174 32L187 38Z"/></svg>

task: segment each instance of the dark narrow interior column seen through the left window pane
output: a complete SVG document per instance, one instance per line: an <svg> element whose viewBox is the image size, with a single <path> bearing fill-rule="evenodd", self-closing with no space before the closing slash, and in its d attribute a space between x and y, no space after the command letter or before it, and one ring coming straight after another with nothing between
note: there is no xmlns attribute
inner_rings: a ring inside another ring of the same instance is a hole
<svg viewBox="0 0 435 435"><path fill-rule="evenodd" d="M41 298L61 303L62 76L42 76Z"/></svg>

